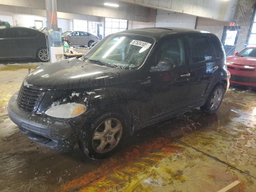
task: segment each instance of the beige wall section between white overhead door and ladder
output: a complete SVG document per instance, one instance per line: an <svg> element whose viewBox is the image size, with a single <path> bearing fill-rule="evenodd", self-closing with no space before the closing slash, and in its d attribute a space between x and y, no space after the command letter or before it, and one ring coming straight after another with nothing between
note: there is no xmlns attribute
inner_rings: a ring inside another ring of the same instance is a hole
<svg viewBox="0 0 256 192"><path fill-rule="evenodd" d="M211 32L221 40L224 26L228 26L228 24L229 22L198 17L196 29Z"/></svg>

